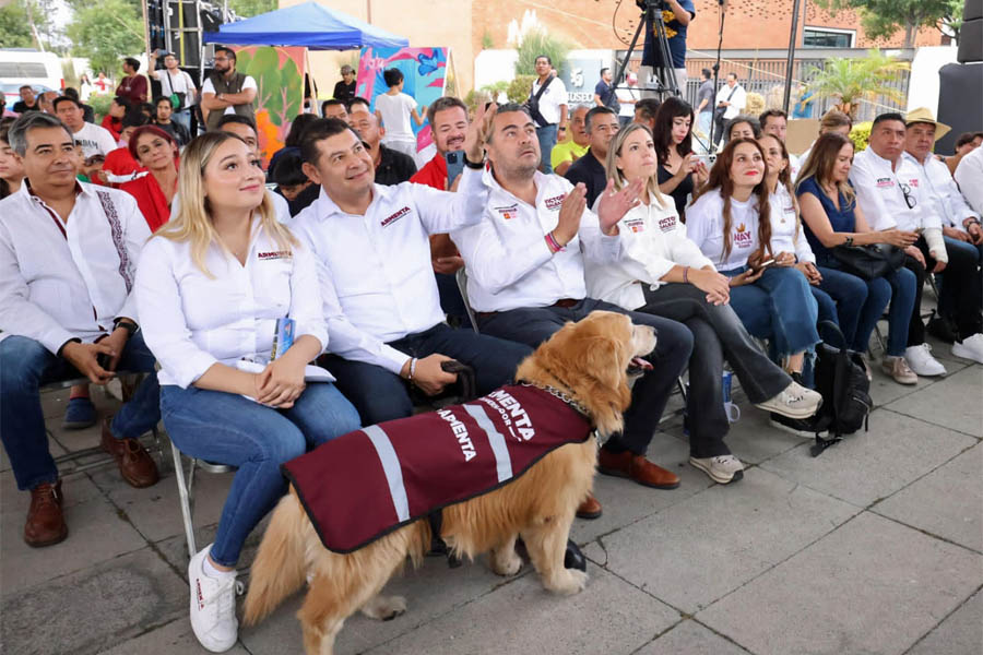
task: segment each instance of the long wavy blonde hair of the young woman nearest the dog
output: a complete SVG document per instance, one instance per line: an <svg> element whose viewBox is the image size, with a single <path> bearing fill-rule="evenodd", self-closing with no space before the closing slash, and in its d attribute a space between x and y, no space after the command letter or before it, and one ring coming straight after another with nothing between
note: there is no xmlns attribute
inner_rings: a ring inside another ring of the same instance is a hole
<svg viewBox="0 0 983 655"><path fill-rule="evenodd" d="M232 257L232 252L218 238L215 226L212 224L211 207L204 194L204 169L217 147L230 139L246 143L237 134L220 131L206 132L188 144L181 154L181 167L178 171L177 215L156 233L157 236L173 241L189 241L191 260L209 277L213 277L205 265L209 248L215 243L228 257ZM265 193L263 201L254 211L259 212L263 230L273 238L280 249L291 250L292 246L298 245L291 230L276 219L273 203Z"/></svg>

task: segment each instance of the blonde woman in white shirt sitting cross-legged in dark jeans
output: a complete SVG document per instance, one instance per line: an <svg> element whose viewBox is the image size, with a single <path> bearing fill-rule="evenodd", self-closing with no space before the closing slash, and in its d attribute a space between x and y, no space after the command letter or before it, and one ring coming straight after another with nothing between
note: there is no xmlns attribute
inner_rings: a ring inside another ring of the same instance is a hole
<svg viewBox="0 0 983 655"><path fill-rule="evenodd" d="M648 128L630 124L612 141L607 175L615 189L647 181L641 202L618 222L618 260L603 265L585 260L588 294L627 310L679 321L692 332L689 462L727 484L741 479L744 467L723 441L730 425L723 404L724 358L759 407L804 418L815 413L819 397L800 388L757 348L729 305L729 278L686 237L675 204L659 191L658 169Z"/></svg>

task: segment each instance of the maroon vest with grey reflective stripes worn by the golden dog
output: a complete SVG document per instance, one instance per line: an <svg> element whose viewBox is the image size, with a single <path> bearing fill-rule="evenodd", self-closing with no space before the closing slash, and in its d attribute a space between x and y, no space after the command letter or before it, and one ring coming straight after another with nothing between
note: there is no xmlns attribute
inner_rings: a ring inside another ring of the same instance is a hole
<svg viewBox="0 0 983 655"><path fill-rule="evenodd" d="M283 465L321 543L351 552L519 477L591 426L549 393L504 386L463 405L348 432Z"/></svg>

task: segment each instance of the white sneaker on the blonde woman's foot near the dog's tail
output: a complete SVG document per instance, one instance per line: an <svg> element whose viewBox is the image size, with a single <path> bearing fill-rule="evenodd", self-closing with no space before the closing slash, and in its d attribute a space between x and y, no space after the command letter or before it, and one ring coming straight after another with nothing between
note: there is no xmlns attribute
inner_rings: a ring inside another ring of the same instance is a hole
<svg viewBox="0 0 983 655"><path fill-rule="evenodd" d="M236 592L241 585L235 574L211 577L202 564L210 544L191 558L188 583L191 586L191 629L202 646L212 653L224 653L236 644L239 621L236 620Z"/></svg>

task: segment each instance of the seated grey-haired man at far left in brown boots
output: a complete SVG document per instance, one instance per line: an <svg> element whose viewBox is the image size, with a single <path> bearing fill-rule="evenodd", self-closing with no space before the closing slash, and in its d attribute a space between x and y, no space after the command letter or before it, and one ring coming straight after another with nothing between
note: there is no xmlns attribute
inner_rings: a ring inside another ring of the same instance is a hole
<svg viewBox="0 0 983 655"><path fill-rule="evenodd" d="M103 420L102 448L131 486L157 481L137 440L161 410L131 291L150 231L132 198L75 180L74 139L56 117L25 114L8 139L29 184L0 201L0 438L17 489L31 492L24 540L40 547L62 541L68 526L39 386L80 373L94 384L117 370L150 373Z"/></svg>

